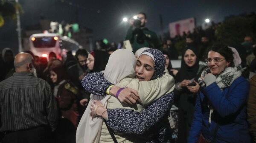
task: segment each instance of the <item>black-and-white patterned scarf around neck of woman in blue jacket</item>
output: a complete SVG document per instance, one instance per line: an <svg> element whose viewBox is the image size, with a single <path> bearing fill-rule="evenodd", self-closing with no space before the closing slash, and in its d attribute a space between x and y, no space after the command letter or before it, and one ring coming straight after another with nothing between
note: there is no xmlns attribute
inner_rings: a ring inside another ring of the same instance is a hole
<svg viewBox="0 0 256 143"><path fill-rule="evenodd" d="M206 87L206 84L204 83L203 79L204 76L207 75L207 73L209 73L209 67L204 69L204 71L201 74L201 77L198 79L199 85L201 85L201 87ZM226 67L224 70L222 70L222 72L219 75L216 76L216 84L222 91L224 88L230 87L233 81L239 78L241 74L241 69L239 67ZM213 107L210 104L208 104L208 107L210 109L209 123L211 123Z"/></svg>

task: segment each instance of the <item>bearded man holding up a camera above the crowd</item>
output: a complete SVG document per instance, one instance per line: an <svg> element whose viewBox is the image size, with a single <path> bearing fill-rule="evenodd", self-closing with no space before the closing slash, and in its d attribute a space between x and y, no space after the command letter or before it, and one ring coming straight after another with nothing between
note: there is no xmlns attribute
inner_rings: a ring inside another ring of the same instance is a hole
<svg viewBox="0 0 256 143"><path fill-rule="evenodd" d="M143 12L137 14L137 19L134 20L134 22L130 22L131 27L127 31L125 40L130 40L134 52L143 47L161 47L161 43L157 37L157 34L145 27L146 22L147 16Z"/></svg>

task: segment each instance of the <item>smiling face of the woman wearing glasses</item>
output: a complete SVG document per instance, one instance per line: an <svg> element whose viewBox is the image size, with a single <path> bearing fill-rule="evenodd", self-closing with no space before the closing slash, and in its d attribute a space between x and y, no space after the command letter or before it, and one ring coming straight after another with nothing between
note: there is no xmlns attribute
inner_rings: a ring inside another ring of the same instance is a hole
<svg viewBox="0 0 256 143"><path fill-rule="evenodd" d="M225 67L229 66L229 62L225 60L225 57L220 53L210 50L208 52L207 58L212 59L211 62L208 62L208 67L213 75L218 75L224 70ZM218 59L218 62L214 62L213 58Z"/></svg>

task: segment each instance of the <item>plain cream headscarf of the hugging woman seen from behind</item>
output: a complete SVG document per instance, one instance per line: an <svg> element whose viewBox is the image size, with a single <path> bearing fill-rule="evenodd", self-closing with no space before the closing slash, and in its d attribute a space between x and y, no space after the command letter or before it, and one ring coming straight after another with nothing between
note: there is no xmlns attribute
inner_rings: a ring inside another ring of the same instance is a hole
<svg viewBox="0 0 256 143"><path fill-rule="evenodd" d="M114 51L108 59L104 77L113 84L118 83L124 78L135 77L136 57L127 49L119 49ZM104 107L107 107L107 101L111 95L105 97L92 95L91 99L96 99L102 102ZM90 100L87 108L82 116L76 130L76 143L98 143L102 129L102 118L90 117Z"/></svg>

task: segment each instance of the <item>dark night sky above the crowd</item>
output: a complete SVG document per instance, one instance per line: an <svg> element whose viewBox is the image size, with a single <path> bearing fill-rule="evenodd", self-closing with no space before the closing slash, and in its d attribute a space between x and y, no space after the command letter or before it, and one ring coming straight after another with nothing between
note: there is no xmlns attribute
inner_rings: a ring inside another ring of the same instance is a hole
<svg viewBox="0 0 256 143"><path fill-rule="evenodd" d="M224 17L256 12L256 0L19 0L24 14L21 26L37 24L40 16L52 21L78 22L93 29L93 40L107 38L122 40L128 29L123 17L140 11L147 14L146 27L160 34L159 14L163 17L164 32L169 22L195 17L197 26L209 18L214 22ZM16 24L6 20L0 28L0 50L12 48L17 53Z"/></svg>

